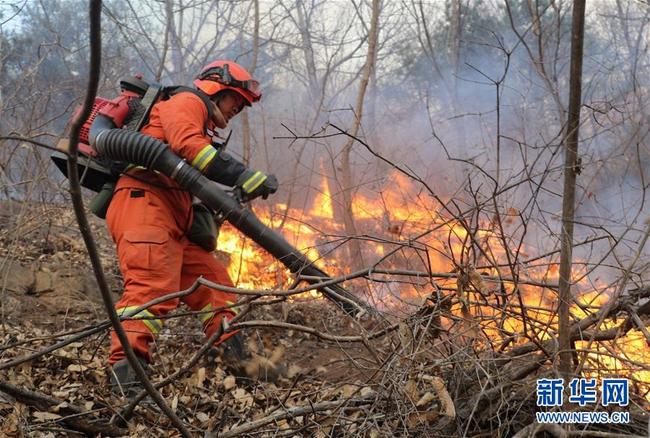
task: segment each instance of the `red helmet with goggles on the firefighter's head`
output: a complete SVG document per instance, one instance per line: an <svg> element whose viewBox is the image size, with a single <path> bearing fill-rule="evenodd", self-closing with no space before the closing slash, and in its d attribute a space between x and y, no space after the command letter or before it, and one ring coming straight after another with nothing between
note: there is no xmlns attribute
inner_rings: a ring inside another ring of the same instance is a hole
<svg viewBox="0 0 650 438"><path fill-rule="evenodd" d="M194 86L209 96L222 90L236 91L248 106L262 98L260 83L241 65L223 59L203 67L194 80Z"/></svg>

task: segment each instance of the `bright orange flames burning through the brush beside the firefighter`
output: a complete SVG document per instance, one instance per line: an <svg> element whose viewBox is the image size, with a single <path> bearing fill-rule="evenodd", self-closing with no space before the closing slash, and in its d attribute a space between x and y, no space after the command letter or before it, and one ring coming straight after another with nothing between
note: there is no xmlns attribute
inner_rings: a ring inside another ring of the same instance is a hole
<svg viewBox="0 0 650 438"><path fill-rule="evenodd" d="M347 254L339 248L345 244L345 233L343 227L334 222L335 201L326 178L321 180L317 192L307 206L276 204L269 209L256 209L256 214L330 275L345 274L350 271L345 263ZM494 267L496 264L505 266L504 245L510 245L499 237L495 221L482 223L472 231L473 241L478 242L483 251L477 259L481 266L474 267L465 261L472 241L468 229L457 221L445 221L439 215L436 201L400 173L391 174L376 196L356 194L352 207L359 232L378 237L363 242L366 264L386 258L378 268L446 275L447 278L436 279L436 284L457 296L458 303L452 307L452 312L463 318L469 313L468 325L473 325L479 336L483 334L481 342L492 342L498 347L506 338L514 337L515 343L526 342L529 340L526 333L539 341L556 335L557 292L524 282L557 285L557 261L546 258L537 265L522 265L518 272L522 283L517 289L512 281L498 281L512 274L504 267ZM510 208L502 220L508 226L517 217L518 211ZM291 284L291 274L281 263L227 224L221 229L218 248L229 254L228 272L238 287L272 289ZM527 254L534 252L531 248L519 250L519 257L525 258ZM607 302L607 292L611 293L611 288L590 279L587 268L581 266L577 263L574 268L574 278L579 279L574 286L576 304L572 306L575 320L596 312ZM388 277L378 274L376 278ZM427 287L426 278L413 281L410 277L409 280L412 282L371 282L366 286L372 293L369 301L384 309L404 307L409 303L415 306L411 309L415 309L432 290ZM352 282L351 287L354 285ZM319 296L316 292L306 295ZM486 301L504 303L505 297L510 298L504 308L486 305ZM607 320L601 330L620 323ZM576 343L578 350L586 347L587 342ZM613 343L593 343L590 348L584 369L586 375L629 376L646 385L650 382L650 371L643 370L650 362L650 348L639 331L632 330ZM626 359L625 363L613 357L613 349ZM638 366L630 369L630 364Z"/></svg>

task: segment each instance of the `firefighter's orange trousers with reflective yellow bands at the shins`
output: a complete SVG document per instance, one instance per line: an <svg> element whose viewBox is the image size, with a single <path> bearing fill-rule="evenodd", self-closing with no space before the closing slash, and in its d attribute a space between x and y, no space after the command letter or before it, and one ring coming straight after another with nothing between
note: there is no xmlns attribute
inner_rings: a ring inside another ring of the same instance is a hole
<svg viewBox="0 0 650 438"><path fill-rule="evenodd" d="M164 177L156 177L163 181ZM118 315L133 313L140 305L171 292L190 287L199 277L225 286L232 281L213 253L185 237L192 220L191 198L186 192L147 184L129 176L120 178L111 201L106 222L117 244L124 292L115 308ZM234 294L205 286L180 299L168 300L131 315L122 321L135 353L151 362L150 344L163 327L159 317L184 302L193 311L201 311L203 331L214 334L223 318L235 311L222 308L236 302ZM223 336L223 342L234 333ZM126 357L117 335L111 332L109 364Z"/></svg>

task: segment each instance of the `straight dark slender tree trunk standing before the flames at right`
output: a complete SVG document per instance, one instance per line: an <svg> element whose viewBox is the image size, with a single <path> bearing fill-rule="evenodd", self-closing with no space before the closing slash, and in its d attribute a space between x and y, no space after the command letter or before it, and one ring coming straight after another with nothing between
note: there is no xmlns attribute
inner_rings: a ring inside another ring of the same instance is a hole
<svg viewBox="0 0 650 438"><path fill-rule="evenodd" d="M573 220L575 216L576 176L580 173L578 137L580 101L582 94L582 45L584 38L585 0L573 3L571 31L571 76L569 78L569 115L564 137L564 191L562 197L562 231L560 248L560 279L558 301L560 373L565 379L572 374L571 321L571 260L573 250Z"/></svg>

